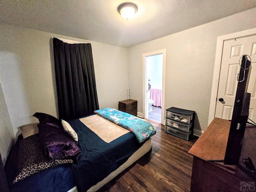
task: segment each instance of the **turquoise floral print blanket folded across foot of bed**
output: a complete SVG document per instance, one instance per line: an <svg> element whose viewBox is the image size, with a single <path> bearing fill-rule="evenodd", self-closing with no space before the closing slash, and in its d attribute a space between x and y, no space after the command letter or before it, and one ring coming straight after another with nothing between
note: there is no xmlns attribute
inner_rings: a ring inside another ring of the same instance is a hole
<svg viewBox="0 0 256 192"><path fill-rule="evenodd" d="M94 113L134 133L139 143L156 134L151 123L114 108L103 108Z"/></svg>

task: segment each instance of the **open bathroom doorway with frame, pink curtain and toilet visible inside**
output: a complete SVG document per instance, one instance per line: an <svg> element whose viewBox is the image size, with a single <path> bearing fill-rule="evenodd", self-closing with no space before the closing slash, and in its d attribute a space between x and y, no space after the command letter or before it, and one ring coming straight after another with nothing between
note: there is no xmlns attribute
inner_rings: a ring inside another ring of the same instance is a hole
<svg viewBox="0 0 256 192"><path fill-rule="evenodd" d="M144 95L143 115L145 118L164 124L164 86L166 50L143 54Z"/></svg>

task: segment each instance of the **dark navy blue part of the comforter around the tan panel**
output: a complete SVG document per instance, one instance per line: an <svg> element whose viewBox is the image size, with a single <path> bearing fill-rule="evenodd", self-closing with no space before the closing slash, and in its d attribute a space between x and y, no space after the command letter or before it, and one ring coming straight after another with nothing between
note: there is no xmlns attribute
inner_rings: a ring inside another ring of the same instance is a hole
<svg viewBox="0 0 256 192"><path fill-rule="evenodd" d="M131 132L106 143L79 119L68 120L78 134L81 156L72 164L79 192L86 192L123 164L142 144Z"/></svg>

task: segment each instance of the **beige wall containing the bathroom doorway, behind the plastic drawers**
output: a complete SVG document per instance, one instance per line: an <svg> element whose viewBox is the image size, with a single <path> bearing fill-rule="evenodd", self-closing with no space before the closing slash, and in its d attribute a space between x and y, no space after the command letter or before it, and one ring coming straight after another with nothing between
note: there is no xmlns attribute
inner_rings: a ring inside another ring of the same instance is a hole
<svg viewBox="0 0 256 192"><path fill-rule="evenodd" d="M128 48L130 98L138 100L138 112L143 110L142 54L166 48L164 109L196 111L200 134L208 125L217 37L255 27L256 8Z"/></svg>

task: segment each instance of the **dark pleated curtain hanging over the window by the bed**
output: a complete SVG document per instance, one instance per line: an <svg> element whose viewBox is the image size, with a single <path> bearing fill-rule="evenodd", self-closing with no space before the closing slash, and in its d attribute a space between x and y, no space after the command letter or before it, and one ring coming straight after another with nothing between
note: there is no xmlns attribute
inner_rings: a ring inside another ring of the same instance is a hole
<svg viewBox="0 0 256 192"><path fill-rule="evenodd" d="M53 38L60 119L70 120L99 109L92 46Z"/></svg>

